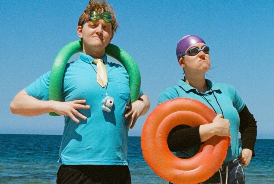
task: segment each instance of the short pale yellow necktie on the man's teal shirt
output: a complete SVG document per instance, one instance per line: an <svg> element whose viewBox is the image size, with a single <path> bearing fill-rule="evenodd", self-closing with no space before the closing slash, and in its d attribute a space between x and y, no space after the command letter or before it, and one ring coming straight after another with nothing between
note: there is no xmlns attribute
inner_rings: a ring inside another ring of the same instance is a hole
<svg viewBox="0 0 274 184"><path fill-rule="evenodd" d="M104 87L107 85L106 66L102 59L94 59L92 61L97 66L97 82L100 86Z"/></svg>

